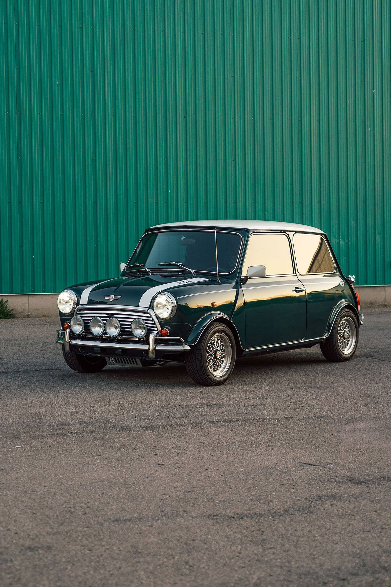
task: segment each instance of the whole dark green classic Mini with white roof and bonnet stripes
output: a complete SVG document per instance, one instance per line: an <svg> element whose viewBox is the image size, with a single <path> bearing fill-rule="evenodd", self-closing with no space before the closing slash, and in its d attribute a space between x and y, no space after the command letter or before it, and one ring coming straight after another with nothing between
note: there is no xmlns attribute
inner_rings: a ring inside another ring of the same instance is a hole
<svg viewBox="0 0 391 587"><path fill-rule="evenodd" d="M58 298L67 365L185 362L219 385L236 358L320 345L329 361L354 355L363 322L354 277L327 236L285 222L216 220L148 228L121 275L74 285Z"/></svg>

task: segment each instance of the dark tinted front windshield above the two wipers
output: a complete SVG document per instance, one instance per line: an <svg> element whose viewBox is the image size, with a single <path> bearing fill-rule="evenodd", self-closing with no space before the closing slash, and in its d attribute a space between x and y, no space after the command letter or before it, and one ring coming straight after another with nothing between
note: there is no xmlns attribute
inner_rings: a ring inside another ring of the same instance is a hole
<svg viewBox="0 0 391 587"><path fill-rule="evenodd" d="M219 273L236 268L242 237L232 232L216 232ZM148 269L166 269L159 263L175 261L194 271L216 272L215 231L162 231L144 235L128 262L141 263ZM174 266L169 270L175 269ZM176 271L182 271L176 268Z"/></svg>

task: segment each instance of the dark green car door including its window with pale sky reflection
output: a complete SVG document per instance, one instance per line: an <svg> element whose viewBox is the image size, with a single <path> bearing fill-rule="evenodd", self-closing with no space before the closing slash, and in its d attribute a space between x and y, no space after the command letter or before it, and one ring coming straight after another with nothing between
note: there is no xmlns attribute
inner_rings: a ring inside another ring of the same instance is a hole
<svg viewBox="0 0 391 587"><path fill-rule="evenodd" d="M294 272L287 234L251 234L242 277L253 265L266 266L266 277L249 278L242 284L246 348L304 339L307 321L305 289Z"/></svg>

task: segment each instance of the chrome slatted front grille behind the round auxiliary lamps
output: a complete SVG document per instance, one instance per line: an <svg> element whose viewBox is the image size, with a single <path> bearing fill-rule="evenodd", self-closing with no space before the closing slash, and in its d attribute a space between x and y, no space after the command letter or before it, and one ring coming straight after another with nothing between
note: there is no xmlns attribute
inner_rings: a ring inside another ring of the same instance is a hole
<svg viewBox="0 0 391 587"><path fill-rule="evenodd" d="M94 316L98 316L98 318L103 321L104 325L106 325L106 321L108 318L117 318L118 322L121 325L120 335L135 338L132 334L130 325L135 318L141 318L144 320L145 324L147 325L147 336L150 334L156 334L158 332L158 328L154 322L152 316L145 310L139 308L118 308L117 306L84 306L77 308L76 315L80 316L84 322L84 336L94 336L90 332L90 322L94 318ZM110 338L110 337L108 337Z"/></svg>

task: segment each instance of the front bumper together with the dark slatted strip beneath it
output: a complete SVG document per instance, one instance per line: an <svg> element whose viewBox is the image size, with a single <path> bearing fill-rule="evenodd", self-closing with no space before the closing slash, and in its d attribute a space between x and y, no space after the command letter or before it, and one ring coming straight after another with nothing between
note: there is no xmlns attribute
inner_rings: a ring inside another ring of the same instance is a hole
<svg viewBox="0 0 391 587"><path fill-rule="evenodd" d="M179 353L185 350L190 350L185 341L179 336L157 336L156 334L149 335L148 345L145 342L123 342L123 341L103 341L85 340L70 338L70 329L57 330L57 343L64 345L65 352L69 353L71 346L78 346L83 352L89 352L93 355L103 352L104 355L118 355L123 351L131 352L131 355L147 356L149 359L160 358L166 353ZM112 352L111 352L112 351Z"/></svg>

